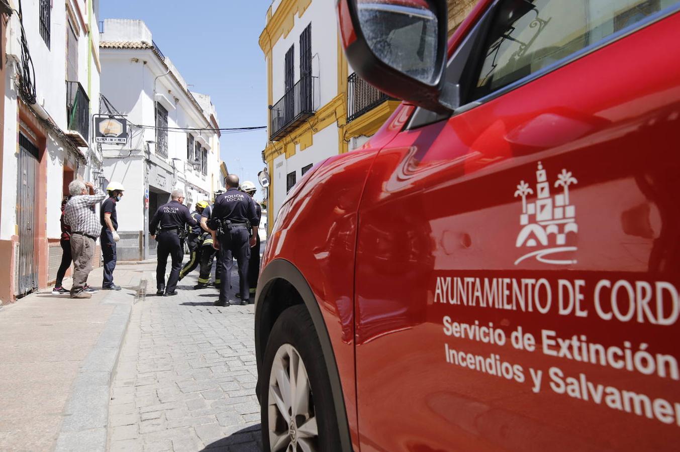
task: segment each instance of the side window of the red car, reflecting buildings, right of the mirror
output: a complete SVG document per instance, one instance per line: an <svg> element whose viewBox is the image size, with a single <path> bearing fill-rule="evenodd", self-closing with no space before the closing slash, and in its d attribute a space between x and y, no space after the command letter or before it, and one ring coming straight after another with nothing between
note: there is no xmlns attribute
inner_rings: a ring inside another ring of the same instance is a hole
<svg viewBox="0 0 680 452"><path fill-rule="evenodd" d="M469 100L484 97L676 3L680 0L505 0L489 29Z"/></svg>

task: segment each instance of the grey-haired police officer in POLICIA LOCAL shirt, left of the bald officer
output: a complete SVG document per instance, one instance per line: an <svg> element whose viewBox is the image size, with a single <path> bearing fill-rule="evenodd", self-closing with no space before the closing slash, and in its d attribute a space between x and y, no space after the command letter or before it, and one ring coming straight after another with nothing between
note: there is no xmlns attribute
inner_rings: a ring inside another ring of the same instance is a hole
<svg viewBox="0 0 680 452"><path fill-rule="evenodd" d="M158 265L156 266L156 294L163 296L177 295L177 279L180 277L184 247L181 235L184 233L186 224L197 226L198 222L191 218L189 209L184 203L184 192L173 190L170 195L171 201L158 207L154 218L149 224L151 238L158 235ZM165 285L165 268L168 255L172 258L172 270ZM163 293L165 291L165 294Z"/></svg>

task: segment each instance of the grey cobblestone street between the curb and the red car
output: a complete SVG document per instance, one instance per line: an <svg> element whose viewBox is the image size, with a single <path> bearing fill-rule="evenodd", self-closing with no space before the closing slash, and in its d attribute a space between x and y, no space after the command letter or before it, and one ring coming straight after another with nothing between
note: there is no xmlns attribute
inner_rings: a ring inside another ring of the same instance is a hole
<svg viewBox="0 0 680 452"><path fill-rule="evenodd" d="M214 307L217 290L155 294L134 305L112 384L110 451L259 451L253 305ZM236 276L236 275L235 275ZM237 279L236 279L237 281Z"/></svg>

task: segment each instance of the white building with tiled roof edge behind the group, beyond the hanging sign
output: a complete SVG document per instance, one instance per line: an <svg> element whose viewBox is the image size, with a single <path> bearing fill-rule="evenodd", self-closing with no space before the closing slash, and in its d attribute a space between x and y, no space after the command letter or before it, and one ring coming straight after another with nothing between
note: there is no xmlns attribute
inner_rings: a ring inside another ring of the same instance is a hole
<svg viewBox="0 0 680 452"><path fill-rule="evenodd" d="M192 209L221 186L219 122L210 97L188 90L141 20L105 20L100 48L103 110L124 116L129 133L126 145L101 145L107 181L125 187L118 259L141 260L156 254L148 224L172 190L184 190Z"/></svg>

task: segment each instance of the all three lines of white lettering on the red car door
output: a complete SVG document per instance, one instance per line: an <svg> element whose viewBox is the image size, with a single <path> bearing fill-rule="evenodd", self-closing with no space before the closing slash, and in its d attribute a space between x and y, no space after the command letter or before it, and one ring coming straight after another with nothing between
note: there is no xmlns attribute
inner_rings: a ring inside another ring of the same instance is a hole
<svg viewBox="0 0 680 452"><path fill-rule="evenodd" d="M680 314L677 288L665 281L601 279L587 284L580 279L559 279L550 283L547 279L437 277L434 302L481 308L485 312L488 309L505 309L575 317L596 315L607 322L630 322L628 325L631 326L636 322L669 326L675 324ZM442 327L445 337L498 347L498 351L492 353L470 353L464 350L466 342L457 341L455 347L445 343L445 362L448 364L528 384L534 394L549 390L583 402L680 426L680 402L656 397L662 394L643 394L607 381L596 381L598 379L583 372L569 375L558 366L534 368L508 362L503 357L504 350L514 349L542 353L553 360L565 360L565 364L579 362L586 366L611 368L614 372L634 372L643 378L654 379L645 385L650 392L659 392L655 384L657 378L680 381L677 358L654 351L648 343L642 342L644 338L640 342L613 338L611 343L598 343L589 340L586 332L560 334L543 328L533 334L521 325L504 330L490 321L462 322L452 315L443 316Z"/></svg>

